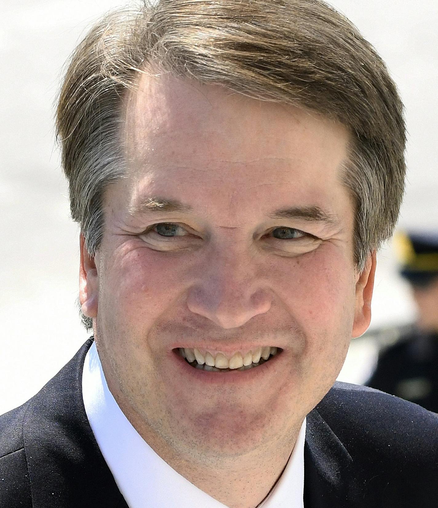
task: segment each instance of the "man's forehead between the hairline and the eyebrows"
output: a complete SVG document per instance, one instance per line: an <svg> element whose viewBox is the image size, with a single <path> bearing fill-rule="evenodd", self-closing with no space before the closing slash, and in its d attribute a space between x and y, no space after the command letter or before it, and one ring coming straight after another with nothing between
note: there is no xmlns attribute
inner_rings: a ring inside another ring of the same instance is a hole
<svg viewBox="0 0 438 508"><path fill-rule="evenodd" d="M303 206L336 199L325 194L329 184L341 189L349 140L343 125L317 113L170 74L141 78L127 99L124 135L129 176L150 193L164 188L172 195L163 197L180 199L195 184L212 199L239 189L243 202L277 185L280 200L293 189Z"/></svg>

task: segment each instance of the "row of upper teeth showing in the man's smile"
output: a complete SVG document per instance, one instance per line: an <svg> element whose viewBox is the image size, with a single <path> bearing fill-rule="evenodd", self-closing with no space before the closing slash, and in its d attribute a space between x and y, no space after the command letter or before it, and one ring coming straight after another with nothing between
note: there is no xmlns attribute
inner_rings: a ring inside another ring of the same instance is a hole
<svg viewBox="0 0 438 508"><path fill-rule="evenodd" d="M181 355L187 359L189 363L196 360L199 365L209 365L218 369L239 369L244 365L258 363L260 358L267 360L269 355L277 354L277 347L264 346L257 347L255 350L247 352L234 353L228 358L225 353L211 353L210 351L199 351L196 347L180 347Z"/></svg>

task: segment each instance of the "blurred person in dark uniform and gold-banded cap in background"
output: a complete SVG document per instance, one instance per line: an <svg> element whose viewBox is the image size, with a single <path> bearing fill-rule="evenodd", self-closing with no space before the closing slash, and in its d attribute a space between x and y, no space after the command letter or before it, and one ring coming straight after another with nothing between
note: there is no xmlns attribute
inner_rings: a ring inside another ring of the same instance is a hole
<svg viewBox="0 0 438 508"><path fill-rule="evenodd" d="M418 317L384 347L366 385L438 412L438 231L397 233L394 240Z"/></svg>

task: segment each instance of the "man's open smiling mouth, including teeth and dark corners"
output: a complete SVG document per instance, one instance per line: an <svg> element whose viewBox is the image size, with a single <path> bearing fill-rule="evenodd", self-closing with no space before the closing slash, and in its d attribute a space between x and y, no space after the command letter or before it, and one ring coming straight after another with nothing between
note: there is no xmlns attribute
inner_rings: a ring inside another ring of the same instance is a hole
<svg viewBox="0 0 438 508"><path fill-rule="evenodd" d="M246 352L234 353L231 357L225 353L213 354L191 347L179 347L176 351L195 369L209 372L231 372L232 370L243 371L258 367L280 354L282 350L279 347L264 346Z"/></svg>

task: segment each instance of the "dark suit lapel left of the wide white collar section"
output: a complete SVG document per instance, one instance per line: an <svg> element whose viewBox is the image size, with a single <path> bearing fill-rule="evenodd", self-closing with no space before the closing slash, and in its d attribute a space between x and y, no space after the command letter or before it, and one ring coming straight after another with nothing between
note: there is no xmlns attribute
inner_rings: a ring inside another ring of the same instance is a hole
<svg viewBox="0 0 438 508"><path fill-rule="evenodd" d="M34 508L128 508L100 453L82 400L88 340L31 400L23 424Z"/></svg>

